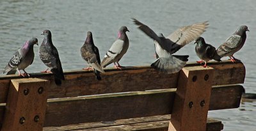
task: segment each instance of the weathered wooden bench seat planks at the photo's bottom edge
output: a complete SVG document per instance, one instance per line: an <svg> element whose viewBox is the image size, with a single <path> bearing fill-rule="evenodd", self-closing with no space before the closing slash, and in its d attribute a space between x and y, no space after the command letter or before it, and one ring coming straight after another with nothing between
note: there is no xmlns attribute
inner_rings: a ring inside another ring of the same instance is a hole
<svg viewBox="0 0 256 131"><path fill-rule="evenodd" d="M64 130L168 130L170 115L150 116L143 118L130 118L116 121L102 121L93 123L80 123L77 125L65 125L62 127L44 127L44 131ZM222 130L221 121L207 119L207 131Z"/></svg>

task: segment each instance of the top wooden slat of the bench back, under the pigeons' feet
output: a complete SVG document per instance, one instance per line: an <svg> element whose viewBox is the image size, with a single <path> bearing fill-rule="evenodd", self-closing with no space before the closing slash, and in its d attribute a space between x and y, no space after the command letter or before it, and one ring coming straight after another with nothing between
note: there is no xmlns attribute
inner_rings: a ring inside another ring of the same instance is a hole
<svg viewBox="0 0 256 131"><path fill-rule="evenodd" d="M190 62L186 67L200 66ZM233 64L229 61L209 62L215 69L212 85L230 85L244 82L245 68L243 63ZM122 71L106 69L102 80L97 81L92 71L73 70L65 71L65 81L62 86L56 86L52 74L32 73L31 77L49 79L48 98L76 97L79 95L95 95L102 93L134 92L176 88L179 72L164 74L149 66L126 67ZM6 102L10 79L20 78L18 75L0 76L0 103ZM132 82L131 82L132 81Z"/></svg>

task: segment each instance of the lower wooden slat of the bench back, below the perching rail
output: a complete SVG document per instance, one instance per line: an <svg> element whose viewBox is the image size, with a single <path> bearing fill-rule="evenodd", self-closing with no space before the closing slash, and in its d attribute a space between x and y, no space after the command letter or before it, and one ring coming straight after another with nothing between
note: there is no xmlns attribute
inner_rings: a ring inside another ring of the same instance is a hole
<svg viewBox="0 0 256 131"><path fill-rule="evenodd" d="M209 110L239 107L242 88L241 85L212 88ZM170 114L174 96L175 89L164 89L52 99L47 105L44 126Z"/></svg>

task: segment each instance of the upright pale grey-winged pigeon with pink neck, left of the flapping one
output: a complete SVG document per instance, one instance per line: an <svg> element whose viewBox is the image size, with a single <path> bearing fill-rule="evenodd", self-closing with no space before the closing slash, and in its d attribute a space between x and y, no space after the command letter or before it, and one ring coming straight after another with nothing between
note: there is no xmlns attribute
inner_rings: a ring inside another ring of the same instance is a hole
<svg viewBox="0 0 256 131"><path fill-rule="evenodd" d="M114 63L116 69L122 69L119 60L122 59L129 47L129 39L125 34L126 31L129 32L126 26L120 27L118 30L118 38L104 56L100 67L106 67L107 65Z"/></svg>

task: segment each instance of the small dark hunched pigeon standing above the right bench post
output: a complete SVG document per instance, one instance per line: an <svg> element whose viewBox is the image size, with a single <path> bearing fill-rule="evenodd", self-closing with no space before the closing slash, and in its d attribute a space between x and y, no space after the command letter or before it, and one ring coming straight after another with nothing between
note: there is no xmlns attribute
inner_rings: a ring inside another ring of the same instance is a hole
<svg viewBox="0 0 256 131"><path fill-rule="evenodd" d="M217 55L216 48L212 45L205 43L205 40L202 37L197 38L195 44L196 55L201 59L200 61L196 62L200 64L202 64L202 62L205 62L203 66L207 67L207 62L209 60L212 60L215 55ZM218 61L221 60L218 59Z"/></svg>

